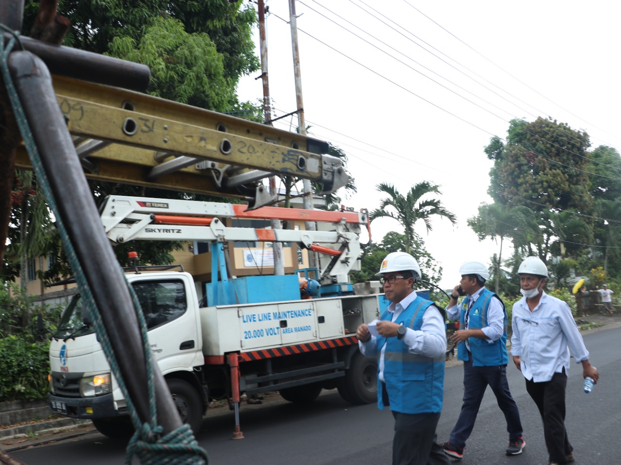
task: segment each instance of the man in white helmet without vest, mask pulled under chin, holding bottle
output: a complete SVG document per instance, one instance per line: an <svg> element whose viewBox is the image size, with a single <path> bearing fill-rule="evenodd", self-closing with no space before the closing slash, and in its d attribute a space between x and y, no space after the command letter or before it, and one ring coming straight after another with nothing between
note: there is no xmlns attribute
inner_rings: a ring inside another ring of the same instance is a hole
<svg viewBox="0 0 621 465"><path fill-rule="evenodd" d="M524 297L513 306L511 355L542 416L550 465L573 462L573 447L565 430L568 345L576 363L582 363L584 378L590 376L597 383L599 373L589 362L589 351L568 304L543 291L548 277L545 263L539 257L527 257L518 274Z"/></svg>

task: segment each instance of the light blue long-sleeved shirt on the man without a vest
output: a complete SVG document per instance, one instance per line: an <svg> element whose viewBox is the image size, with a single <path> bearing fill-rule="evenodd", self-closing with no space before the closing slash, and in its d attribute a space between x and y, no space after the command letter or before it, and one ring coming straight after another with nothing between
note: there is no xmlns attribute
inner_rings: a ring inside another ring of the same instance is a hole
<svg viewBox="0 0 621 465"><path fill-rule="evenodd" d="M550 381L563 368L568 373L569 347L576 363L589 360L589 351L568 304L545 292L532 312L525 297L517 301L511 325L511 355L522 359L520 366L526 379L542 383Z"/></svg>

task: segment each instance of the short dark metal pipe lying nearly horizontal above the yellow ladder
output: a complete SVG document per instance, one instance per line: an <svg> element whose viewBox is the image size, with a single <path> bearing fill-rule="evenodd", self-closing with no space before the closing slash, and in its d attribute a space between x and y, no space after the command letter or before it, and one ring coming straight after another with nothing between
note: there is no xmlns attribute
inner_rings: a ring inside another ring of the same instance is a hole
<svg viewBox="0 0 621 465"><path fill-rule="evenodd" d="M11 38L4 33L4 40ZM99 55L77 48L63 47L41 42L30 37L20 37L25 50L39 56L52 74L97 82L107 86L121 87L143 92L147 89L151 71L148 66L112 56Z"/></svg>

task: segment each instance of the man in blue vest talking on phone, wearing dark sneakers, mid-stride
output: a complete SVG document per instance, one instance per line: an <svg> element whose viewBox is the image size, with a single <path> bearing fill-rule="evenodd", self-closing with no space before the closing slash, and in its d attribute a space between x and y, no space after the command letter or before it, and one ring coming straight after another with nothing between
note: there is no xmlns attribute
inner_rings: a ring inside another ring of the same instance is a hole
<svg viewBox="0 0 621 465"><path fill-rule="evenodd" d="M453 288L446 308L446 318L460 321L460 329L451 335L451 340L458 344L458 360L464 362L464 396L460 417L448 443L442 447L448 456L463 458L466 441L489 386L507 420L509 446L505 453L521 454L526 442L522 437L520 412L507 381L507 311L501 298L485 288L489 272L483 262L464 262L460 275L460 283ZM458 305L460 295L466 297Z"/></svg>

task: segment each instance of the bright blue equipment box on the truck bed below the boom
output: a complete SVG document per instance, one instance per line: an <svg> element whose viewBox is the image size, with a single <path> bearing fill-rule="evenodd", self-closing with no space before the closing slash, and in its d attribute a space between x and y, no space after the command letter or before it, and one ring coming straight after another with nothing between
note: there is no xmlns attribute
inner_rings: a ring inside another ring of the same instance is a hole
<svg viewBox="0 0 621 465"><path fill-rule="evenodd" d="M229 280L228 283L230 291L227 295L224 283L218 281L217 301L214 301L214 284L207 283L205 291L208 306L258 304L300 299L300 284L297 275L245 276Z"/></svg>

